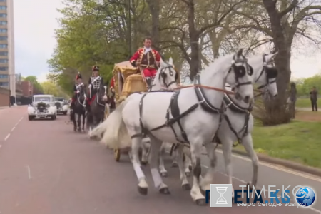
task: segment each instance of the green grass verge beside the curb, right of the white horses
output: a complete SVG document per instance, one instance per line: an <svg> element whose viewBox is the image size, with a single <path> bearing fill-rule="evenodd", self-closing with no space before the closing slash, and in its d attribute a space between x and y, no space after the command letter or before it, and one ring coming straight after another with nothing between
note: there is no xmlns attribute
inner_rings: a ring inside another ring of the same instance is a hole
<svg viewBox="0 0 321 214"><path fill-rule="evenodd" d="M321 168L321 123L293 121L280 126L253 130L257 153ZM243 146L237 149L244 150Z"/></svg>

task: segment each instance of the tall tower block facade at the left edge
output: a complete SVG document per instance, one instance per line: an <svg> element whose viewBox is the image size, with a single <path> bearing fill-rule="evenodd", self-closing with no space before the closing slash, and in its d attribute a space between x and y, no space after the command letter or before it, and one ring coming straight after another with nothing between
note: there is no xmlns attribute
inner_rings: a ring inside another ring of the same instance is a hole
<svg viewBox="0 0 321 214"><path fill-rule="evenodd" d="M14 69L14 0L0 0L0 87L16 96Z"/></svg>

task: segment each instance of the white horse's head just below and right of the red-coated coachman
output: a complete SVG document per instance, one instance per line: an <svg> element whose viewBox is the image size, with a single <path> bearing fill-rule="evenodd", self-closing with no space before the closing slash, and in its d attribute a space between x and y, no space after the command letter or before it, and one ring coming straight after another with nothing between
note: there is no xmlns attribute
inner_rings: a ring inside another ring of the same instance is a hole
<svg viewBox="0 0 321 214"><path fill-rule="evenodd" d="M173 58L170 57L168 62L161 59L161 66L156 73L152 91L161 90L162 88L174 90L174 88L177 88L177 78L178 73L175 71Z"/></svg>

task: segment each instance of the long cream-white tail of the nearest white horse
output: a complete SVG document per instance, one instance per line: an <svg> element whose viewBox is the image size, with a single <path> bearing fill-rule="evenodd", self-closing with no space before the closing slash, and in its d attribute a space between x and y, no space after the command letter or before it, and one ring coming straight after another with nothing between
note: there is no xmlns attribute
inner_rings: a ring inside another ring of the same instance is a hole
<svg viewBox="0 0 321 214"><path fill-rule="evenodd" d="M125 123L123 122L122 111L126 106L126 101L123 101L116 109L111 113L104 126L105 133L101 139L101 143L106 144L108 148L128 148L131 147L131 137L128 135L128 131Z"/></svg>

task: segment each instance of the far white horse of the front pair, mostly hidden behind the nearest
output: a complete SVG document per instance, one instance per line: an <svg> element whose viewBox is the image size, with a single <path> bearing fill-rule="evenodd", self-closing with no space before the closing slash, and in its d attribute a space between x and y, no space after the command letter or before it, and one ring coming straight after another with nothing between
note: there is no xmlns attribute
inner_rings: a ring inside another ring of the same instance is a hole
<svg viewBox="0 0 321 214"><path fill-rule="evenodd" d="M248 63L253 68L253 81L257 83L258 89L263 89L263 93L268 93L267 95L275 97L277 96L277 70L274 64L275 54L263 54L253 56L248 58ZM216 142L222 143L223 146L223 156L225 160L225 170L228 176L228 183L232 184L232 167L231 167L231 153L233 148L233 143L238 141L245 147L248 152L253 164L253 178L252 183L248 183L250 188L255 186L258 182L258 156L253 149L252 131L253 131L253 116L250 113L252 111L252 106L249 103L244 103L243 101L238 101L234 96L228 96L225 94L224 103L226 111L224 113L223 121L218 129ZM205 148L208 152L208 156L211 160L215 160L215 148L216 143L205 143ZM184 151L183 151L184 150ZM180 179L182 180L182 187L185 190L190 188L188 180L184 173L183 166L183 153L190 156L189 152L183 146L177 148L177 158L178 167L180 168ZM185 158L187 158L185 156ZM216 163L214 161L213 163ZM186 172L186 169L185 169ZM201 179L200 185L203 191L209 190L209 181L213 181L213 168L210 168L210 173L205 175L205 178ZM232 192L234 196L234 190Z"/></svg>

